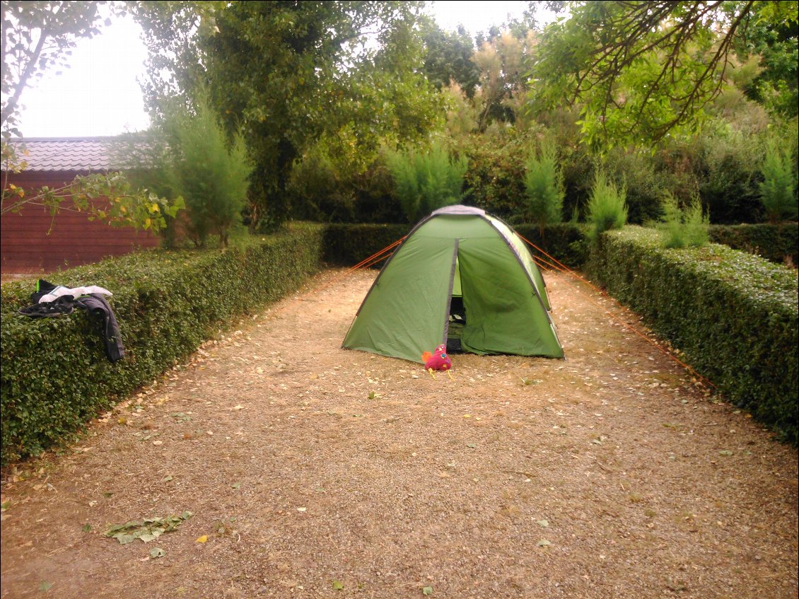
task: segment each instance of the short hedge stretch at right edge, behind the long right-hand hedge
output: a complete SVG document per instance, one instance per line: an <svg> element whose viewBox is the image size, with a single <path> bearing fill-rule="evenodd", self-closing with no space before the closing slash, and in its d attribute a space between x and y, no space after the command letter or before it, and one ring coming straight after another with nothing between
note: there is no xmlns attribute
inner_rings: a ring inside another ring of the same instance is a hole
<svg viewBox="0 0 799 599"><path fill-rule="evenodd" d="M714 224L710 227L710 240L730 248L763 256L766 260L783 264L790 256L799 265L799 224Z"/></svg>

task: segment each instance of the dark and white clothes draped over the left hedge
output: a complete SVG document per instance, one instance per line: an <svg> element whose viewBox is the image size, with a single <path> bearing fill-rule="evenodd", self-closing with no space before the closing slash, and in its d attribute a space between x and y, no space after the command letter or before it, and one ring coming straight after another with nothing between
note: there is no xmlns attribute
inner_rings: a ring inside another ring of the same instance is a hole
<svg viewBox="0 0 799 599"><path fill-rule="evenodd" d="M111 362L117 362L125 357L125 347L122 346L117 317L103 295L112 294L96 285L66 288L40 279L36 291L30 296L33 305L21 308L19 313L31 318L49 318L71 314L75 307L79 307L91 319L101 323L105 355Z"/></svg>

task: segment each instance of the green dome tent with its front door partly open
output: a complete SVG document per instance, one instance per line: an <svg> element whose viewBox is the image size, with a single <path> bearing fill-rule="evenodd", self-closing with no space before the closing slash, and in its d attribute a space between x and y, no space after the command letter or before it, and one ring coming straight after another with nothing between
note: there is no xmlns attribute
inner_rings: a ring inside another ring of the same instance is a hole
<svg viewBox="0 0 799 599"><path fill-rule="evenodd" d="M421 362L449 351L562 358L543 276L523 240L479 208L440 208L376 277L343 347Z"/></svg>

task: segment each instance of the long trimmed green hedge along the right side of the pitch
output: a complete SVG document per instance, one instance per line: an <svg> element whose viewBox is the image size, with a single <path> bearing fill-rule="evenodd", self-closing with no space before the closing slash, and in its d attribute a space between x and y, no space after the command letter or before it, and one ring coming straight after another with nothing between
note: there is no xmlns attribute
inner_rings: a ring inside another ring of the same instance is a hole
<svg viewBox="0 0 799 599"><path fill-rule="evenodd" d="M718 244L602 235L589 270L738 407L797 445L797 272Z"/></svg>

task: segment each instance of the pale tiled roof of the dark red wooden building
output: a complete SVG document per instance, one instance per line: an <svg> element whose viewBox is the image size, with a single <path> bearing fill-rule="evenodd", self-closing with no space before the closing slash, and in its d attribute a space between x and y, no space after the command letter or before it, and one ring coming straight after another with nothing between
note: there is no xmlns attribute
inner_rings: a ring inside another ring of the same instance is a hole
<svg viewBox="0 0 799 599"><path fill-rule="evenodd" d="M117 137L27 137L11 143L25 144L27 154L20 157L28 163L26 171L97 172L115 168L109 154L112 142L117 140Z"/></svg>

